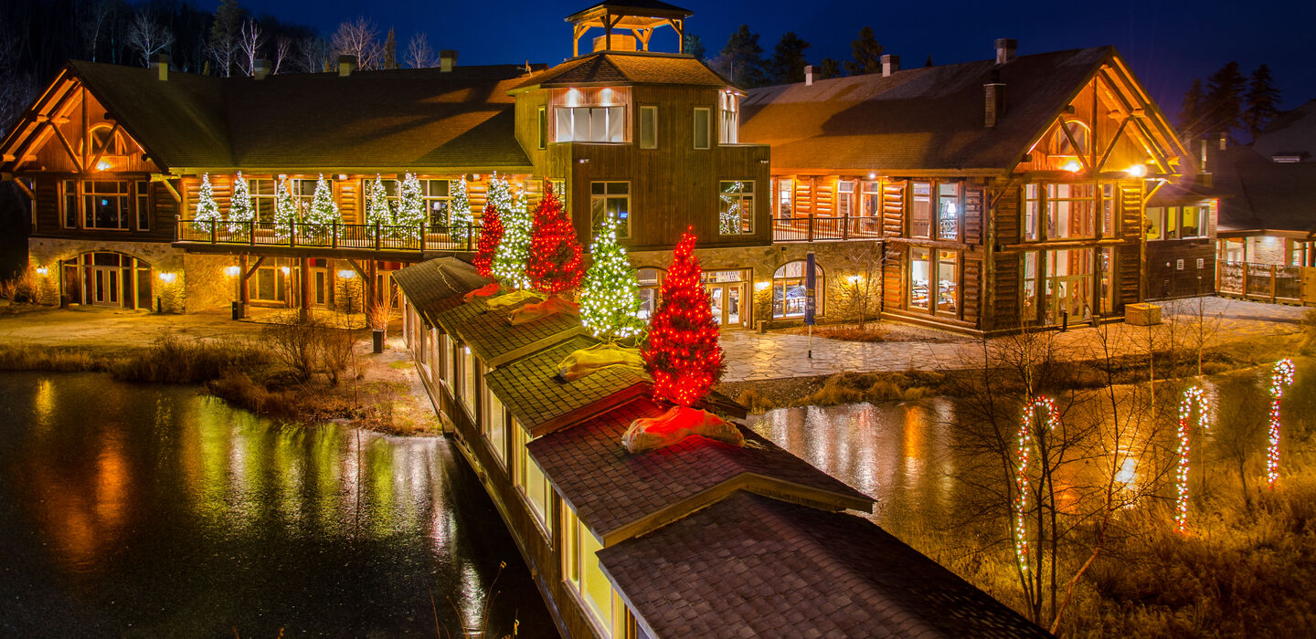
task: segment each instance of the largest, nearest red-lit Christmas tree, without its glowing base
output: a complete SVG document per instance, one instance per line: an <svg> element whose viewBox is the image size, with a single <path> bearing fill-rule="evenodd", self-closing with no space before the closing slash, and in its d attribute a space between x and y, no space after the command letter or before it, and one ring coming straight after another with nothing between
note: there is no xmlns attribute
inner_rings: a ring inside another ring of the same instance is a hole
<svg viewBox="0 0 1316 639"><path fill-rule="evenodd" d="M662 301L640 350L654 379L655 401L690 406L708 394L725 369L717 322L700 275L690 227L676 245L671 270L662 283Z"/></svg>

